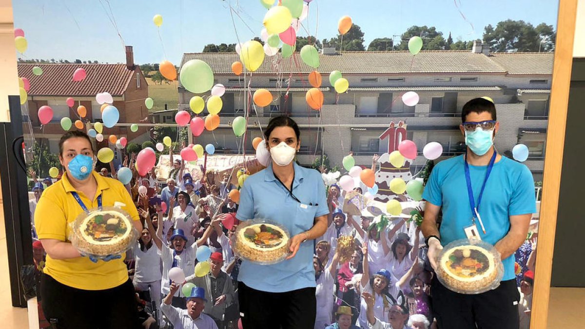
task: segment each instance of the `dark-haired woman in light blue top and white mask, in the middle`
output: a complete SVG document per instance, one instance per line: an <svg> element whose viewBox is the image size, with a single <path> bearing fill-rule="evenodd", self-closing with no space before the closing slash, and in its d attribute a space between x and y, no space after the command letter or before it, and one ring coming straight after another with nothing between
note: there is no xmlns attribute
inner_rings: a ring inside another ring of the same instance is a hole
<svg viewBox="0 0 585 329"><path fill-rule="evenodd" d="M236 218L265 218L283 225L291 235L291 253L274 265L242 261L242 324L244 329L310 329L316 316L312 240L327 228L326 188L321 173L293 161L301 136L292 119L271 119L264 136L270 163L244 183Z"/></svg>

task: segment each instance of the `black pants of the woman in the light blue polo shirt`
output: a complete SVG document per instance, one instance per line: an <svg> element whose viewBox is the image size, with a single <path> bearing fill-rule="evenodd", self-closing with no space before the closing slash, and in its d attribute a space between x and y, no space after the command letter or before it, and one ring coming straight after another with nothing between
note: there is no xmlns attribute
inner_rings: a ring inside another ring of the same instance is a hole
<svg viewBox="0 0 585 329"><path fill-rule="evenodd" d="M261 292L238 283L243 329L311 329L315 327L315 288L284 293Z"/></svg>

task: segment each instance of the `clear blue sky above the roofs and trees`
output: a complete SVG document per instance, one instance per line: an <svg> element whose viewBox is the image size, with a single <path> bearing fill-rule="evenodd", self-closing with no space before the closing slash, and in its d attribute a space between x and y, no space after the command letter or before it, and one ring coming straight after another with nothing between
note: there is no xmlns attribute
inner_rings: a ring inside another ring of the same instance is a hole
<svg viewBox="0 0 585 329"><path fill-rule="evenodd" d="M557 1L455 1L313 0L304 26L311 35L317 30L319 40L329 39L338 33L339 18L349 15L365 33L366 47L376 37L400 35L412 25L436 26L454 40L481 38L484 26L506 19L556 26ZM13 11L15 28L25 31L29 59L124 62L122 42L109 19L111 6L125 44L134 46L136 63L168 59L178 65L184 52L237 42L230 5L241 17L233 16L240 41L259 36L266 13L260 0L13 0ZM166 52L152 22L157 13L164 19L160 35ZM298 35L307 32L300 29Z"/></svg>

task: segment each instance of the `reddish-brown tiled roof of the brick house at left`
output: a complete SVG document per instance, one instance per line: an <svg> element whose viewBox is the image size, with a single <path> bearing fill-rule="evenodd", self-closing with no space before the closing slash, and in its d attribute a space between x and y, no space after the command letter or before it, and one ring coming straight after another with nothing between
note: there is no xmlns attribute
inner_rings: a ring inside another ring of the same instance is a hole
<svg viewBox="0 0 585 329"><path fill-rule="evenodd" d="M33 74L35 66L43 69L42 75ZM73 72L80 67L87 77L73 81ZM126 64L18 64L18 76L30 80L29 96L91 97L98 92L121 96L133 73Z"/></svg>

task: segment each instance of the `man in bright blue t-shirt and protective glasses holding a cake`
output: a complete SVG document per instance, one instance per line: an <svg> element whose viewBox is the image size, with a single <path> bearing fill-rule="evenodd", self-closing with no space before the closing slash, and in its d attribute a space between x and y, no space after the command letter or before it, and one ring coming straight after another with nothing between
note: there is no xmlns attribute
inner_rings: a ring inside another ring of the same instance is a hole
<svg viewBox="0 0 585 329"><path fill-rule="evenodd" d="M528 167L495 151L493 140L500 123L493 102L474 98L463 106L461 117L459 128L467 153L438 163L423 194L422 232L428 258L436 269L443 246L479 235L500 253L504 277L496 289L480 294L452 292L435 277L431 286L433 311L439 328L517 329L514 252L526 239L536 212L534 179Z"/></svg>

